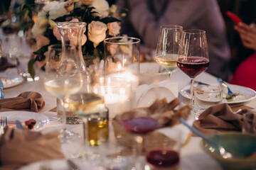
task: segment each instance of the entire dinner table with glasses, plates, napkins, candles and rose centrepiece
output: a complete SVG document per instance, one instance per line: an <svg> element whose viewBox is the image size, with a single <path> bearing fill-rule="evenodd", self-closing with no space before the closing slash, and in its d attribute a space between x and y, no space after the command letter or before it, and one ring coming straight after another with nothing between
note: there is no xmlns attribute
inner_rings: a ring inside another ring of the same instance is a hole
<svg viewBox="0 0 256 170"><path fill-rule="evenodd" d="M26 62L2 39L0 169L256 169L256 92L205 72L206 31L161 26L140 62L114 9L43 4Z"/></svg>

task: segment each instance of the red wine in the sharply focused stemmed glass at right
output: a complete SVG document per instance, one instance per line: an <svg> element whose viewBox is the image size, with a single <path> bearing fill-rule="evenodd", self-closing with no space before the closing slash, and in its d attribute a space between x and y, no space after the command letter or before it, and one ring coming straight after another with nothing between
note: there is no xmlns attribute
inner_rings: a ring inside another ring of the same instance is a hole
<svg viewBox="0 0 256 170"><path fill-rule="evenodd" d="M177 65L188 77L195 78L209 67L209 60L205 57L179 58Z"/></svg>

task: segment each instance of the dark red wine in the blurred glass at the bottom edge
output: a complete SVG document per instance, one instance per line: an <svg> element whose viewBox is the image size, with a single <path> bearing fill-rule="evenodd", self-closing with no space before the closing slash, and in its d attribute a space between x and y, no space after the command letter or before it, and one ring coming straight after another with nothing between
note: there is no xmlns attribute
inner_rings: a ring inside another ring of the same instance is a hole
<svg viewBox="0 0 256 170"><path fill-rule="evenodd" d="M155 149L146 154L146 161L156 167L170 168L178 166L178 152L171 149Z"/></svg>

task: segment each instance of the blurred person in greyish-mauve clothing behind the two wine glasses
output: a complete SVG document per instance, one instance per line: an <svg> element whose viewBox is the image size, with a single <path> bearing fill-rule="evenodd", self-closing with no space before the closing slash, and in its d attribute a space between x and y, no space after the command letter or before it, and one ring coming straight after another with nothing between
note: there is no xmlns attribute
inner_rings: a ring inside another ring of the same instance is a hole
<svg viewBox="0 0 256 170"><path fill-rule="evenodd" d="M183 30L206 30L210 56L207 72L228 80L230 47L216 0L118 0L117 5L128 9L122 22L122 33L140 38L153 50L160 26L179 25Z"/></svg>

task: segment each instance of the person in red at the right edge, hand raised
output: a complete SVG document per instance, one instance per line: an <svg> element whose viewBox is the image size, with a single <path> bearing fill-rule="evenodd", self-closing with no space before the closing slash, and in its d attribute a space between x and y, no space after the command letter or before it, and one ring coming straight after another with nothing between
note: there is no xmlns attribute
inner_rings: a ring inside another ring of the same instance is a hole
<svg viewBox="0 0 256 170"><path fill-rule="evenodd" d="M238 31L242 44L255 52L241 62L230 83L256 90L256 25L255 23L250 24L250 26L245 23L238 23L238 26L234 28Z"/></svg>

